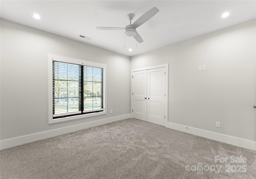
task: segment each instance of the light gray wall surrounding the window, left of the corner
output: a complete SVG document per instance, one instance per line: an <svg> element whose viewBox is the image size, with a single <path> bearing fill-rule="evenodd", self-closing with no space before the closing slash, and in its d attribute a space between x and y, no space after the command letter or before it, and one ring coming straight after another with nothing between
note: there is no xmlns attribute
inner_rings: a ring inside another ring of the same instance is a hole
<svg viewBox="0 0 256 179"><path fill-rule="evenodd" d="M130 57L6 20L0 32L1 140L130 113ZM107 64L107 115L48 124L48 53Z"/></svg>

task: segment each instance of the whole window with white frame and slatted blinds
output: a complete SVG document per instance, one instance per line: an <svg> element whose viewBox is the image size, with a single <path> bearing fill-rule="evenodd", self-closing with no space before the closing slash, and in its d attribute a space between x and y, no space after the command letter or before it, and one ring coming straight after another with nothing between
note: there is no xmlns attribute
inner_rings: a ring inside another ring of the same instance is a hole
<svg viewBox="0 0 256 179"><path fill-rule="evenodd" d="M106 65L52 56L49 55L49 123L106 114Z"/></svg>

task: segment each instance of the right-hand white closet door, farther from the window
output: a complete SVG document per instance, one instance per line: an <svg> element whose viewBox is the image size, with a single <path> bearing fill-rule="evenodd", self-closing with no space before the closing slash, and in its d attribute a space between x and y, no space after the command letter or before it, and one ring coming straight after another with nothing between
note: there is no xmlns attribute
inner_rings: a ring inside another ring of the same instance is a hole
<svg viewBox="0 0 256 179"><path fill-rule="evenodd" d="M164 125L165 67L148 70L147 121Z"/></svg>

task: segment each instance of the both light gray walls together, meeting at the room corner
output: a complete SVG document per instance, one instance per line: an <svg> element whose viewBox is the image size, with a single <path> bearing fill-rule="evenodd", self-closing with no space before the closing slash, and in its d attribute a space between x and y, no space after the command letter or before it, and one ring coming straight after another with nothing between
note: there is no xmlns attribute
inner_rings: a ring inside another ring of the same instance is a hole
<svg viewBox="0 0 256 179"><path fill-rule="evenodd" d="M252 20L130 59L1 20L1 140L130 113L130 69L168 63L169 122L255 141L255 25ZM107 64L107 115L48 124L48 53Z"/></svg>

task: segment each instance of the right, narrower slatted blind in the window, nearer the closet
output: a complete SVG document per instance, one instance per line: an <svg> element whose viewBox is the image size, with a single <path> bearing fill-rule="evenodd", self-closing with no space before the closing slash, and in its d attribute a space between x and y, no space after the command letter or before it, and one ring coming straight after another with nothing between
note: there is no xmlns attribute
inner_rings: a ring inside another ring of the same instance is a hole
<svg viewBox="0 0 256 179"><path fill-rule="evenodd" d="M83 66L84 113L104 110L103 68Z"/></svg>

